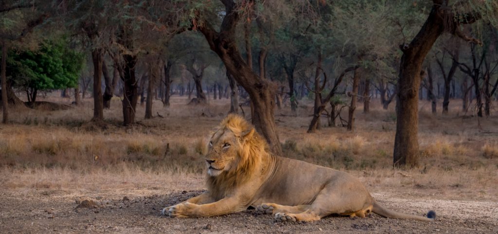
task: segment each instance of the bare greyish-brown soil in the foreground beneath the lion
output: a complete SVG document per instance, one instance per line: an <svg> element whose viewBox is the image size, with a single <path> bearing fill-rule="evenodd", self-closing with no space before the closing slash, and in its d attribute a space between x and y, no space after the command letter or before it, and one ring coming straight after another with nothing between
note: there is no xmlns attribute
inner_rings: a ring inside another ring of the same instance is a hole
<svg viewBox="0 0 498 234"><path fill-rule="evenodd" d="M373 193L388 208L436 221L326 217L313 223L277 223L254 210L214 218L161 217L160 209L202 193L148 188L122 191L0 190L0 233L498 233L498 203L404 199ZM90 195L90 196L85 196ZM88 200L88 201L86 201Z"/></svg>

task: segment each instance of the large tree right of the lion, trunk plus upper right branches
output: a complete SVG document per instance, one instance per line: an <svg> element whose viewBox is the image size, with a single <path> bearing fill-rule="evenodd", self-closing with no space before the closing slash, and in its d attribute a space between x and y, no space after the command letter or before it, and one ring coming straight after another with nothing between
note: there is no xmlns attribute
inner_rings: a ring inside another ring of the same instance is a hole
<svg viewBox="0 0 498 234"><path fill-rule="evenodd" d="M460 8L460 6L468 6ZM474 23L479 17L496 14L497 9L487 4L490 9L476 10L480 3L472 1L458 2L450 5L447 0L433 0L431 11L410 44L400 46L403 55L400 61L398 92L396 103L396 135L394 138L393 164L394 166L418 165L418 90L420 87L420 71L425 56L432 48L436 39L444 32L452 32L471 42L479 42L463 34L460 25ZM479 9L479 8L478 8ZM491 17L490 17L491 18Z"/></svg>

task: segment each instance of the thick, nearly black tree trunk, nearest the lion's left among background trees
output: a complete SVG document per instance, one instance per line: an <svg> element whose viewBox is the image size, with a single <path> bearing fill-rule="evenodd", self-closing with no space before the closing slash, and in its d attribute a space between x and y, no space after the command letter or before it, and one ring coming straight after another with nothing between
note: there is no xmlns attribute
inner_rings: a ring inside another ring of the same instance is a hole
<svg viewBox="0 0 498 234"><path fill-rule="evenodd" d="M135 65L136 56L125 54L124 71L121 78L123 86L123 125L127 126L135 122L136 103L138 101L138 91L136 87Z"/></svg>

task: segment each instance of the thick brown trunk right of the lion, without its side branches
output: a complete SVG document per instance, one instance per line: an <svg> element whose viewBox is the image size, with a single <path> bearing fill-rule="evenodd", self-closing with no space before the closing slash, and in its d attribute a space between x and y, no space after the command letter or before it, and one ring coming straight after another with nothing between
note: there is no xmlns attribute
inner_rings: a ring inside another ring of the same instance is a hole
<svg viewBox="0 0 498 234"><path fill-rule="evenodd" d="M396 105L396 135L394 137L394 166L418 165L418 88L425 56L443 33L444 23L439 14L440 4L434 2L424 25L409 45L403 45L400 61Z"/></svg>

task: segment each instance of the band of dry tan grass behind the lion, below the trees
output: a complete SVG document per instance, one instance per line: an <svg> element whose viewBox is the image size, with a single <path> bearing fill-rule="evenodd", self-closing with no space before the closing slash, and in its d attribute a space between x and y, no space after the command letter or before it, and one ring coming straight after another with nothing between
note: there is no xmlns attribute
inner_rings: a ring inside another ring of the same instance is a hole
<svg viewBox="0 0 498 234"><path fill-rule="evenodd" d="M44 101L70 103L52 97ZM131 127L120 125L119 99L105 110L105 128L86 126L93 113L91 99L67 111L13 112L13 122L0 126L0 187L202 188L207 136L226 116L229 103L187 103L186 98L173 97L171 107L163 108L156 101L154 113L164 118L153 119L142 119L144 108L138 106L138 124ZM374 99L368 115L360 105L354 132L325 127L322 118L322 129L305 133L312 109L307 100L300 102L296 117L284 107L276 118L285 156L348 170L374 191L405 187L454 196L451 191L465 188L492 196L489 189L498 184L496 116L479 121L458 117L460 103L450 104L445 117L433 116L425 101L420 104L420 167L401 173L391 168L394 104L385 111Z"/></svg>

